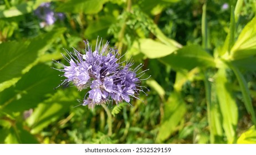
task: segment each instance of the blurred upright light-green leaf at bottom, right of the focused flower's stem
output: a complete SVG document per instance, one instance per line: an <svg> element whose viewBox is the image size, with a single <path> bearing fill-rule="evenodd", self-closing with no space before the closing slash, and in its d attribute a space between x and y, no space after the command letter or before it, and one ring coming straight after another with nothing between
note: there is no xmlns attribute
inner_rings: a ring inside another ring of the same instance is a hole
<svg viewBox="0 0 256 155"><path fill-rule="evenodd" d="M172 92L164 105L164 116L156 137L156 142L161 143L177 130L178 123L186 113L186 104L178 92Z"/></svg>

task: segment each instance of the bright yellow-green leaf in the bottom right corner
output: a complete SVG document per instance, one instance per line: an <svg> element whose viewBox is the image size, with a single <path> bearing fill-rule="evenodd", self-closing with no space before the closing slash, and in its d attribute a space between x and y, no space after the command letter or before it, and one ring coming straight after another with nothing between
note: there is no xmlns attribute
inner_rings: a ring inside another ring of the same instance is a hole
<svg viewBox="0 0 256 155"><path fill-rule="evenodd" d="M250 127L249 130L242 133L237 139L238 144L255 144L256 143L256 130L255 126Z"/></svg>

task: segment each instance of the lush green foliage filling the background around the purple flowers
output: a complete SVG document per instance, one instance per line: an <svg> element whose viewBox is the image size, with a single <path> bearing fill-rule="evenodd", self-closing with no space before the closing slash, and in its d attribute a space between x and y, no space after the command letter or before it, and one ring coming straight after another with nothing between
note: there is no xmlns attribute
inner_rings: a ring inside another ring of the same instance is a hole
<svg viewBox="0 0 256 155"><path fill-rule="evenodd" d="M42 2L64 20L40 26ZM256 143L255 13L253 0L0 1L0 143ZM150 69L132 106L54 90L52 60L98 36Z"/></svg>

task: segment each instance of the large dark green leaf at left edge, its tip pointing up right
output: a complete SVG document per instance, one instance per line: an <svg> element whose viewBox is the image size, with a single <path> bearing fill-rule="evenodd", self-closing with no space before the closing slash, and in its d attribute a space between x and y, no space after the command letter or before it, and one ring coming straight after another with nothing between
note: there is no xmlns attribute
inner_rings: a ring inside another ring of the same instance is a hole
<svg viewBox="0 0 256 155"><path fill-rule="evenodd" d="M0 44L0 83L21 76L24 70L27 71L28 68L35 65L33 63L38 56L43 55L64 30L57 29L40 35L32 39L31 42L27 40Z"/></svg>

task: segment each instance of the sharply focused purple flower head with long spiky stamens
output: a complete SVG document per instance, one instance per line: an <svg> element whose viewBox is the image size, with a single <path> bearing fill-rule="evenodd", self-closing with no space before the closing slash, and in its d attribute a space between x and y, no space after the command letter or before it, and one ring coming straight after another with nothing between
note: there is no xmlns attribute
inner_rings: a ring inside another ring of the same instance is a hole
<svg viewBox="0 0 256 155"><path fill-rule="evenodd" d="M139 99L135 95L139 94L140 91L144 92L142 90L144 86L139 85L140 77L149 69L137 74L136 72L143 65L140 64L132 70L133 61L120 62L122 56L119 56L116 49L110 48L109 51L106 51L108 44L109 42L106 42L103 45L102 39L99 43L97 40L95 51L93 51L87 41L85 42L85 54L74 49L74 55L69 51L66 51L68 56L63 55L65 60L69 62L69 66L57 62L64 67L64 69L57 70L63 71L63 76L66 77L60 85L73 82L79 91L90 87L84 96L82 104L84 106L94 107L113 101L118 104L123 100L129 103L130 96ZM126 63L126 65L122 66L122 63ZM137 77L138 75L140 76Z"/></svg>

